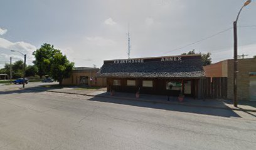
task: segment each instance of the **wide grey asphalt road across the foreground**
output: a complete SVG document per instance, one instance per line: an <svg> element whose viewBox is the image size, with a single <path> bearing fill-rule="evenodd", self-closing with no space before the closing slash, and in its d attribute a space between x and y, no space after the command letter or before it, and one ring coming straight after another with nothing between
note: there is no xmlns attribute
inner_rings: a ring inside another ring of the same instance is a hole
<svg viewBox="0 0 256 150"><path fill-rule="evenodd" d="M164 109L171 107L173 111ZM2 90L0 149L256 148L256 121L232 115L187 113L193 109L234 113L74 94Z"/></svg>

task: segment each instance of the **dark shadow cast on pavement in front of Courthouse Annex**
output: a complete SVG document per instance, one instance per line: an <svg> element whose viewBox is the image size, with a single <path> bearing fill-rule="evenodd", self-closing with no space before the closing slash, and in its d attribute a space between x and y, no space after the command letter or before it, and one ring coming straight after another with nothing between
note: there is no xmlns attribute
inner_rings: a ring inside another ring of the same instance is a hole
<svg viewBox="0 0 256 150"><path fill-rule="evenodd" d="M119 99L119 98L103 98L105 93L102 94L102 97L100 94L96 97L93 97L89 99L90 101L99 101L104 103L114 103L114 104L123 104L123 105L129 105L129 106L137 106L142 108L152 108L152 109L163 109L167 111L179 111L183 113L195 113L195 114L206 114L211 116L221 116L226 118L241 118L237 113L232 111L232 109L218 109L218 108L206 108L203 106L189 106L189 105L183 105L183 104L163 104L163 103L157 103L157 102L148 102L148 101L137 101L132 99ZM203 100L195 100L195 99L189 99L186 101L201 101L204 103ZM186 103L186 102L185 102ZM223 104L224 105L224 104ZM224 107L224 106L223 106Z"/></svg>

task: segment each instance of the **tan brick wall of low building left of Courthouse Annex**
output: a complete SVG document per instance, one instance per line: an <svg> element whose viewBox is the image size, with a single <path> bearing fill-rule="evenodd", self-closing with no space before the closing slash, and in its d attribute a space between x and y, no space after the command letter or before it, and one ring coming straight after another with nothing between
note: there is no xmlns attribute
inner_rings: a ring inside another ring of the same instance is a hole
<svg viewBox="0 0 256 150"><path fill-rule="evenodd" d="M88 76L88 85L100 86L100 87L107 86L106 78L97 78L97 81L95 81L97 72L98 72L97 70L96 71L94 71L94 70L73 71L70 78L63 80L63 85L79 86L80 85L80 76ZM93 78L93 81L90 81L90 78Z"/></svg>

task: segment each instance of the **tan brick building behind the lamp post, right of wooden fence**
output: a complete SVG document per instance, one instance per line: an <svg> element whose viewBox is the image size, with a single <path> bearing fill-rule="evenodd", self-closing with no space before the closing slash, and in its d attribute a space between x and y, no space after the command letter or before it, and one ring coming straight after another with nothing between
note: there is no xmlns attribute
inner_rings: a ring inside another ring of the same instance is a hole
<svg viewBox="0 0 256 150"><path fill-rule="evenodd" d="M227 77L227 98L233 99L233 59L204 66L206 77ZM256 59L238 59L238 100L256 101Z"/></svg>

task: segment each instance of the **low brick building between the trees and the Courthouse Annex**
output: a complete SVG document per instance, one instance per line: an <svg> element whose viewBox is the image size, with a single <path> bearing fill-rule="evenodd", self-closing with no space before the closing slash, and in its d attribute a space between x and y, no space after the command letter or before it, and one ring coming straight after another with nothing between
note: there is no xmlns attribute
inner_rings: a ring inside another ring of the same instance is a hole
<svg viewBox="0 0 256 150"><path fill-rule="evenodd" d="M63 80L63 85L76 85L76 86L107 86L106 78L97 78L96 74L99 68L80 67L72 71L70 78Z"/></svg>

